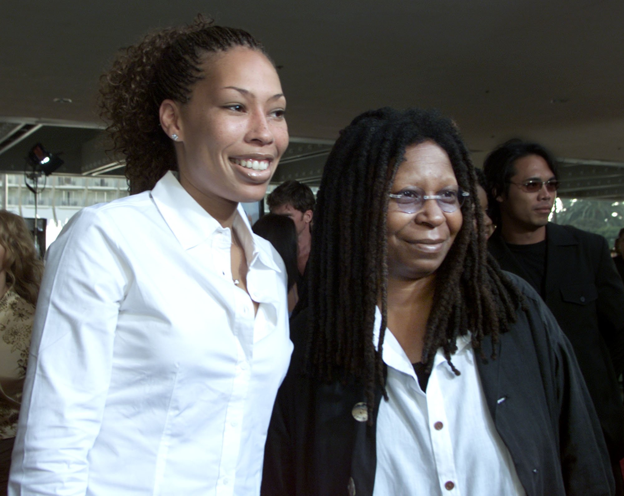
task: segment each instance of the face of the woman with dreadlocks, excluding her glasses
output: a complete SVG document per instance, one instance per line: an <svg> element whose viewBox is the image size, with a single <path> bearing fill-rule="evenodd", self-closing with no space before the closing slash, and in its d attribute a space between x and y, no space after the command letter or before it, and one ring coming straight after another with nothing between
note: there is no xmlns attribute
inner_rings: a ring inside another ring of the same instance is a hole
<svg viewBox="0 0 624 496"><path fill-rule="evenodd" d="M426 195L457 191L457 179L446 151L433 141L407 146L397 169L391 193L420 188ZM462 227L462 212L444 212L434 199L406 214L394 200L388 205L388 276L394 279L421 279L435 274Z"/></svg>

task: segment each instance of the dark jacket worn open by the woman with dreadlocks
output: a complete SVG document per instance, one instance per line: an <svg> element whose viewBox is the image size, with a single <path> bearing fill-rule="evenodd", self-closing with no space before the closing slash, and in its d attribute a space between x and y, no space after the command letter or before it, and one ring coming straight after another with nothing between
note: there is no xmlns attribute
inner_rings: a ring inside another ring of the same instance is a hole
<svg viewBox="0 0 624 496"><path fill-rule="evenodd" d="M604 439L568 340L537 293L510 277L529 311L500 336L498 358L477 358L477 369L520 482L529 496L613 494ZM291 324L295 351L273 409L261 495L371 495L375 424L351 414L364 401L363 388L303 375L308 318L306 309ZM487 338L483 351L492 353ZM379 401L378 392L375 413Z"/></svg>

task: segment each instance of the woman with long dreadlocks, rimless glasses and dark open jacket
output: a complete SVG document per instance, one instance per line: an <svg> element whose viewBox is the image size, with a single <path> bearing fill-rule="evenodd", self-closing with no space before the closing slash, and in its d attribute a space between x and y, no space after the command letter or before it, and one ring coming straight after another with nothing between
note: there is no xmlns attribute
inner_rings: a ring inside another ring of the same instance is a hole
<svg viewBox="0 0 624 496"><path fill-rule="evenodd" d="M342 131L261 494L612 494L570 345L489 259L476 188L437 113L383 108Z"/></svg>

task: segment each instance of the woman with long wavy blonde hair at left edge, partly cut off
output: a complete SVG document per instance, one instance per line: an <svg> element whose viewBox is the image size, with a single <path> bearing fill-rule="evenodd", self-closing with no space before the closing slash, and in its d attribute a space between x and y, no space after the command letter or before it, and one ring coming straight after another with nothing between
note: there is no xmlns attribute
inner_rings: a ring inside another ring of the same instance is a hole
<svg viewBox="0 0 624 496"><path fill-rule="evenodd" d="M6 494L42 272L24 219L0 210L0 495Z"/></svg>

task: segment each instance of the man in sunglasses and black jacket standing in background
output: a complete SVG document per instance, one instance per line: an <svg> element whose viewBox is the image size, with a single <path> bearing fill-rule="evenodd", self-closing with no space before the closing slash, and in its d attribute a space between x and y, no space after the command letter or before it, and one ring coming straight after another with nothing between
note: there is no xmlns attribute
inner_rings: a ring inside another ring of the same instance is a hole
<svg viewBox="0 0 624 496"><path fill-rule="evenodd" d="M624 286L607 240L548 222L559 183L557 164L543 146L509 140L485 158L483 171L498 226L490 253L540 293L572 343L605 434L617 494L624 495L617 382L624 369Z"/></svg>

